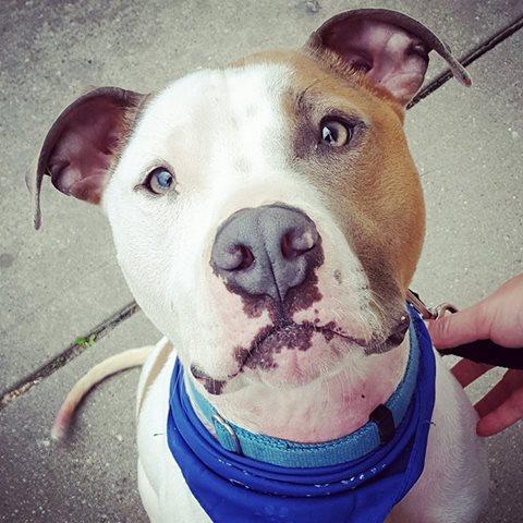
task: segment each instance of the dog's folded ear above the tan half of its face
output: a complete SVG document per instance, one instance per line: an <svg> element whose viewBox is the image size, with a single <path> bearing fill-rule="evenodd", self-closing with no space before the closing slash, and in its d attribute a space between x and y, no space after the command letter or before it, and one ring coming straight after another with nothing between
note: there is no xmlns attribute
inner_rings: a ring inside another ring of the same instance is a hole
<svg viewBox="0 0 523 523"><path fill-rule="evenodd" d="M313 33L307 47L319 56L325 49L335 52L403 106L419 89L431 50L447 61L462 84L472 84L447 44L419 22L396 11L360 9L338 14Z"/></svg>

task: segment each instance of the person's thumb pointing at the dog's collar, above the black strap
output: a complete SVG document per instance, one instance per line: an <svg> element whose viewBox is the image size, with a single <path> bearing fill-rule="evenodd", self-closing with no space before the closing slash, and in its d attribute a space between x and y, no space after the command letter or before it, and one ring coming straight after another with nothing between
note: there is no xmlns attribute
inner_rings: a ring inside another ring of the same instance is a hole
<svg viewBox="0 0 523 523"><path fill-rule="evenodd" d="M430 319L427 328L436 349L450 349L490 337L490 321L484 302L439 319Z"/></svg>

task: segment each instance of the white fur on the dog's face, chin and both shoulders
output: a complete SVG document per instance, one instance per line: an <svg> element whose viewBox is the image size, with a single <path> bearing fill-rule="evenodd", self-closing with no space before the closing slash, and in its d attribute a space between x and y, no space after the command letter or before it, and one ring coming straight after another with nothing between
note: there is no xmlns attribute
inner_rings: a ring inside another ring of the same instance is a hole
<svg viewBox="0 0 523 523"><path fill-rule="evenodd" d="M167 445L174 358L180 357L185 368L205 362L209 375L230 376L236 370L234 345L248 344L269 323L266 313L246 321L240 296L212 275L210 248L219 223L244 207L273 202L299 207L315 221L323 239L325 264L317 272L323 297L315 304L321 321L336 319L364 339L380 328L366 306L373 296L357 256L323 196L285 161L292 145L290 123L280 107L291 82L292 71L285 65L258 63L202 71L173 83L147 106L104 194L125 279L166 336L150 353L138 387L138 484L154 523L210 521ZM175 173L178 195L156 198L134 190L159 159ZM335 284L335 269L342 271L342 284ZM337 317L337 311L346 313ZM294 317L306 318L306 311ZM346 352L340 356L315 336L311 351L280 355L278 369L245 372L231 380L228 393L212 399L220 412L248 429L296 440L335 439L365 423L364 408L341 419L340 399L366 387L368 401L385 401L404 373L408 343L381 355L365 356L353 348L349 356ZM148 374L167 343L175 352L145 391ZM425 471L391 521L473 522L487 497L476 415L436 357L437 398ZM285 402L278 401L282 390ZM299 405L304 404L302 412ZM290 412L294 425L289 423ZM317 412L317 418L308 418L309 412Z"/></svg>

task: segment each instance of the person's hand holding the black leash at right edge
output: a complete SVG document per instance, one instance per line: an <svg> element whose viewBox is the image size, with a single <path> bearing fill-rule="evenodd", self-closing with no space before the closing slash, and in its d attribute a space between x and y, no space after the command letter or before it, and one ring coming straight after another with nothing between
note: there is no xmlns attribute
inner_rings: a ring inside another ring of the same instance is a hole
<svg viewBox="0 0 523 523"><path fill-rule="evenodd" d="M428 330L437 349L491 339L500 345L523 350L523 275L470 308L430 320ZM452 374L466 387L490 368L461 360ZM523 370L509 369L475 409L481 417L476 427L479 436L491 436L523 418Z"/></svg>

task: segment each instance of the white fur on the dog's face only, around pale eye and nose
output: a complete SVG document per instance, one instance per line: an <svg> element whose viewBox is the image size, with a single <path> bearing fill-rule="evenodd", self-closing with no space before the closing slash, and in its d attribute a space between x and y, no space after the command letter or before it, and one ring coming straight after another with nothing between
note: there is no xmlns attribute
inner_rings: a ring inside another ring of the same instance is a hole
<svg viewBox="0 0 523 523"><path fill-rule="evenodd" d="M378 327L372 311L363 312L370 294L357 258L319 193L285 161L290 123L280 99L291 75L283 65L257 64L202 71L175 82L147 108L104 195L131 291L180 346L182 363L205 361L214 377L236 370L231 342L248 345L270 321L264 313L246 323L241 297L228 292L209 266L217 224L244 207L284 202L307 214L323 238L326 259L318 269L328 296L316 306L321 323L336 319L331 311L343 309L354 316L342 318L354 337L369 337ZM170 194L155 199L131 191L158 159L173 168L177 202ZM343 271L342 285L335 284L333 268Z"/></svg>

